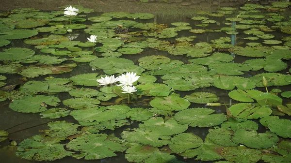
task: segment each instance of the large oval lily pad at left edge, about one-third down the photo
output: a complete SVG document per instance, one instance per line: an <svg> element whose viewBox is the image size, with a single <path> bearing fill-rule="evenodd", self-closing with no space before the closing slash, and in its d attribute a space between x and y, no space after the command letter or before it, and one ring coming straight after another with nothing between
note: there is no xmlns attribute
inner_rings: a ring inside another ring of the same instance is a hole
<svg viewBox="0 0 291 163"><path fill-rule="evenodd" d="M0 52L0 60L21 60L28 59L34 55L34 51L28 48L21 47L12 47L9 49L4 49L3 52Z"/></svg>

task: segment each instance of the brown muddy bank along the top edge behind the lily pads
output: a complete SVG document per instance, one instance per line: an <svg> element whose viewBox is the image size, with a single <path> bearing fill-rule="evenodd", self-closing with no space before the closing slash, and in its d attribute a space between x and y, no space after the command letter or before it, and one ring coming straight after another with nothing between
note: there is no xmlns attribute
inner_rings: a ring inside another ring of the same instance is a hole
<svg viewBox="0 0 291 163"><path fill-rule="evenodd" d="M82 5L96 12L146 12L167 13L179 10L191 12L195 9L215 9L226 6L240 6L247 0L0 0L0 11L10 11L17 8L32 7L43 11L60 10L64 5Z"/></svg>

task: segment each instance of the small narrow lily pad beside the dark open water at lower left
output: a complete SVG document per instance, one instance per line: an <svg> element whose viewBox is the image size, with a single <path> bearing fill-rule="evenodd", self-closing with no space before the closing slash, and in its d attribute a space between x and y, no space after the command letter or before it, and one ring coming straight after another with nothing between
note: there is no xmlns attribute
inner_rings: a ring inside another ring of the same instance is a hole
<svg viewBox="0 0 291 163"><path fill-rule="evenodd" d="M70 114L70 110L65 108L52 108L46 111L41 112L39 115L41 118L49 118L49 119L58 119L61 117L66 117Z"/></svg>

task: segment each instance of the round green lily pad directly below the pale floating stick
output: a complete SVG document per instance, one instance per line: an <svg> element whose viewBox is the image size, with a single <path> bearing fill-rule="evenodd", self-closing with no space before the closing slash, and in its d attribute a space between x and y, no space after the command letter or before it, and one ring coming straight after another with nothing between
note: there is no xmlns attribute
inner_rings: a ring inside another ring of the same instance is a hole
<svg viewBox="0 0 291 163"><path fill-rule="evenodd" d="M179 111L175 119L180 124L189 124L191 127L211 127L226 121L224 114L211 114L215 110L208 108L191 108Z"/></svg>

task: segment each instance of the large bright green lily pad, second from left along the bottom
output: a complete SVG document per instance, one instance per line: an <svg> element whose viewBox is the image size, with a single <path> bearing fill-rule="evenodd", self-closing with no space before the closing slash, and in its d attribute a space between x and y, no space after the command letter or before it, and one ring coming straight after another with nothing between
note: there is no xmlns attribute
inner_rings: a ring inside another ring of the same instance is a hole
<svg viewBox="0 0 291 163"><path fill-rule="evenodd" d="M66 148L81 151L73 157L77 159L85 158L85 160L104 159L116 156L114 152L123 152L122 141L117 137L110 137L107 134L84 134L70 141Z"/></svg>

